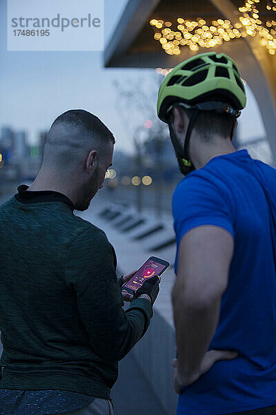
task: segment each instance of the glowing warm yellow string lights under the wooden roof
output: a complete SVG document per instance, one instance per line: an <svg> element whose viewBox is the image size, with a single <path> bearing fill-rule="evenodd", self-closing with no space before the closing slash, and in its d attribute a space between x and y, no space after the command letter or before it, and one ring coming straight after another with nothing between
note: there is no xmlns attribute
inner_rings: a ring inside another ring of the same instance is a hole
<svg viewBox="0 0 276 415"><path fill-rule="evenodd" d="M213 20L210 25L204 19L198 17L194 21L177 18L177 31L171 30L172 23L163 20L151 19L150 25L155 26L160 32L155 32L154 39L158 40L161 47L168 55L179 55L183 46L197 51L199 48L213 48L224 42L229 42L240 37L259 37L259 44L266 47L270 55L276 53L276 21L259 19L257 3L260 0L247 0L244 6L238 10L242 14L235 24L230 20ZM273 0L276 3L276 0ZM276 11L275 6L266 6L267 10ZM161 69L161 68L157 68ZM162 75L168 75L161 69Z"/></svg>

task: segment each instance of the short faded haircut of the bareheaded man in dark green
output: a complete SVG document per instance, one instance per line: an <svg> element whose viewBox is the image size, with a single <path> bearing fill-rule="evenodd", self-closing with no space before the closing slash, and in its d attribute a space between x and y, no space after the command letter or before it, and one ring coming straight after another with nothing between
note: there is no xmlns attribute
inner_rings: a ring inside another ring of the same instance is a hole
<svg viewBox="0 0 276 415"><path fill-rule="evenodd" d="M71 109L52 123L46 135L42 165L73 167L92 149L101 155L110 142L115 144L115 138L99 118L83 109Z"/></svg>

